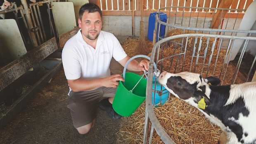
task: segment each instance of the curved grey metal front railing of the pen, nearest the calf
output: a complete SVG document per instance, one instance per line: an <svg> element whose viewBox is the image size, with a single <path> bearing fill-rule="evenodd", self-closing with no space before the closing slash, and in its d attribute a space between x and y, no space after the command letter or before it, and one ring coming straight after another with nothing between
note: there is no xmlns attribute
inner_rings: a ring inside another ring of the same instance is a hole
<svg viewBox="0 0 256 144"><path fill-rule="evenodd" d="M159 57L158 57L159 50L161 49L161 44L163 44L164 42L173 40L173 39L177 39L177 38L185 38L186 44L187 44L188 37L196 37L197 39L199 39L201 37L213 37L215 39L215 41L216 41L216 39L223 39L223 38L225 38L225 39L243 39L247 42L249 40L256 41L256 37L239 37L239 36L230 36L230 35L210 35L210 34L182 34L182 35L173 35L171 37L166 37L166 38L163 38L163 39L159 40L158 42L156 42L156 44L154 45L154 47L152 49L152 54L151 54L150 61L149 61L147 89L146 89L146 111L145 111L143 144L146 144L148 141L149 121L151 122L151 130L150 130L150 134L149 134L149 144L152 143L152 136L153 136L154 130L157 132L157 134L159 135L159 137L161 138L161 140L164 143L175 144L173 139L171 139L171 137L167 134L167 132L161 126L161 124L158 121L158 118L156 117L156 114L154 113L154 106L152 105L152 92L153 92L152 83L153 83L153 70L154 70L153 63L156 63L156 65L157 65L157 63L160 63L161 60L166 59L166 58L159 59ZM246 49L246 45L247 44L244 43L243 52ZM186 51L186 48L187 48L187 45L185 45L185 48L184 48L185 51ZM214 46L213 46L213 48L214 48ZM181 55L185 55L185 52L175 54L172 56L168 56L168 58L172 58L174 56L181 56ZM198 57L199 57L199 55L197 55L197 58ZM256 57L254 58L254 62L255 62L255 59L256 59ZM238 67L238 69L239 69L239 67ZM181 71L182 71L182 69L181 69Z"/></svg>

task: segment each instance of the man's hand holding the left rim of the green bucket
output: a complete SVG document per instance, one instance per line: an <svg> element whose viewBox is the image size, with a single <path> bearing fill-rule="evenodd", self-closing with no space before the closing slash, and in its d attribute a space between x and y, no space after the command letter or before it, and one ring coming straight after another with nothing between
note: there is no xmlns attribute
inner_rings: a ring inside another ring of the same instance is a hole
<svg viewBox="0 0 256 144"><path fill-rule="evenodd" d="M102 86L116 88L119 84L119 81L124 81L121 74L114 74L104 78L102 81Z"/></svg>

